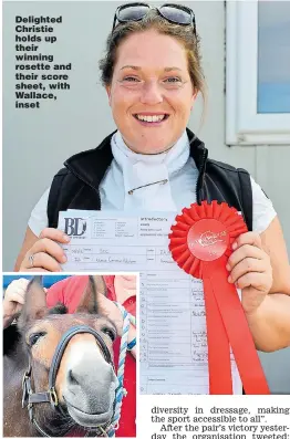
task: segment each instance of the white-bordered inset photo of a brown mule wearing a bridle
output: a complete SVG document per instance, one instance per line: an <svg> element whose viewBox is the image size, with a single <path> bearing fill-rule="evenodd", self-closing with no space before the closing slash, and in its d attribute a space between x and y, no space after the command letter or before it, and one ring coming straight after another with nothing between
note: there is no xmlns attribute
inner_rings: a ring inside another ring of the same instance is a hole
<svg viewBox="0 0 290 439"><path fill-rule="evenodd" d="M3 437L136 436L137 280L3 275Z"/></svg>

